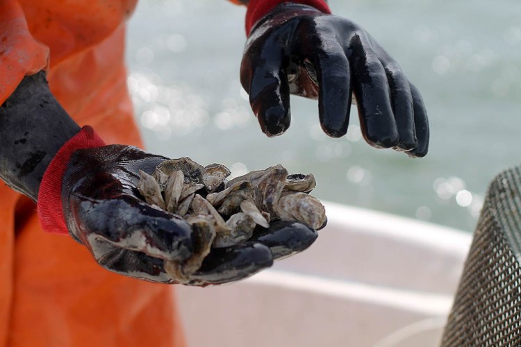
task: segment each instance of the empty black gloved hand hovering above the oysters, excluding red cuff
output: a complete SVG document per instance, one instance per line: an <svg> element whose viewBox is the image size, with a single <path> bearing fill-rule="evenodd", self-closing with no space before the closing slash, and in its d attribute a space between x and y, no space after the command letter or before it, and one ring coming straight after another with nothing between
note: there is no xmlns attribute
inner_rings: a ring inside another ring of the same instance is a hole
<svg viewBox="0 0 521 347"><path fill-rule="evenodd" d="M282 3L249 34L240 70L263 132L290 126L290 94L318 99L331 137L347 133L352 94L365 140L379 148L427 154L422 97L398 63L363 28L311 6Z"/></svg>

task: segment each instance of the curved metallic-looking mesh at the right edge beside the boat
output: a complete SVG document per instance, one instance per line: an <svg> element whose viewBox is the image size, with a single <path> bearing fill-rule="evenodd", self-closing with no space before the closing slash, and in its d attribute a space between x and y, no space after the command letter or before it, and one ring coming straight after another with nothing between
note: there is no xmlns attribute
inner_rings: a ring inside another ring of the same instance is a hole
<svg viewBox="0 0 521 347"><path fill-rule="evenodd" d="M521 346L521 167L491 183L442 346Z"/></svg>

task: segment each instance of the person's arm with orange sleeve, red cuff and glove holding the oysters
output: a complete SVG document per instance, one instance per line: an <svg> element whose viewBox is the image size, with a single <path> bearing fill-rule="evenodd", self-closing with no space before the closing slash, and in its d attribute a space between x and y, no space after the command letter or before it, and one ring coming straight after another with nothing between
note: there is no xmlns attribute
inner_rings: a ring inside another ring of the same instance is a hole
<svg viewBox="0 0 521 347"><path fill-rule="evenodd" d="M192 255L192 230L179 216L140 199L139 171L167 158L124 145L106 146L80 128L49 90L47 49L28 33L15 1L0 4L0 178L37 202L42 228L70 234L104 268L152 282L176 283L165 260ZM274 259L311 245L300 223L276 223L244 244L213 250L192 285L239 280Z"/></svg>

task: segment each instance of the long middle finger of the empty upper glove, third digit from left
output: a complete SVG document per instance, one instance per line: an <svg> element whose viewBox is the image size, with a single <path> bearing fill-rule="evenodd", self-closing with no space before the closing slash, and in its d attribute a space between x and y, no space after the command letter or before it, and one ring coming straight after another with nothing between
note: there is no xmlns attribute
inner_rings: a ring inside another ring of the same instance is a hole
<svg viewBox="0 0 521 347"><path fill-rule="evenodd" d="M386 71L370 44L363 42L358 35L351 43L349 62L363 136L372 146L394 147L399 142L399 135L390 105Z"/></svg>

